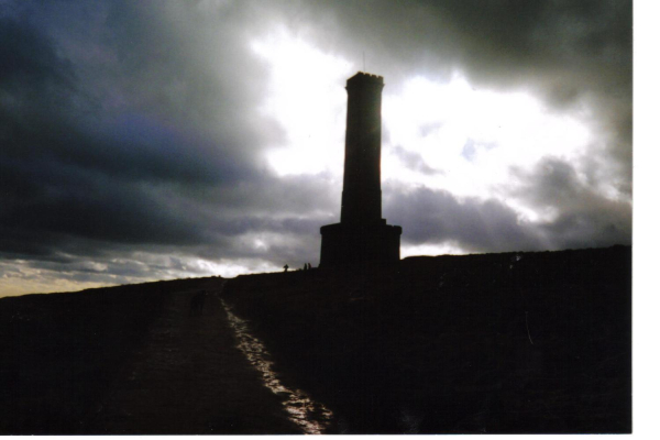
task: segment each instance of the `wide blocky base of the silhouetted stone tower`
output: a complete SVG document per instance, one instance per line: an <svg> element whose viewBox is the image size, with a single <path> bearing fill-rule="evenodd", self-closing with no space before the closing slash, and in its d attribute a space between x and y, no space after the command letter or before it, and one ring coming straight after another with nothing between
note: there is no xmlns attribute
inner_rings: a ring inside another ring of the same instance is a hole
<svg viewBox="0 0 660 440"><path fill-rule="evenodd" d="M321 227L319 267L386 266L400 260L402 227L334 223Z"/></svg>

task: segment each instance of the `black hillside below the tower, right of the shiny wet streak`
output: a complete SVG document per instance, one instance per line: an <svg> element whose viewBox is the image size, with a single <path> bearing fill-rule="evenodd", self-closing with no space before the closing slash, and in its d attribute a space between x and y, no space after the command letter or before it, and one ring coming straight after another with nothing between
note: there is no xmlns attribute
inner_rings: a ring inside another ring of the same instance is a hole
<svg viewBox="0 0 660 440"><path fill-rule="evenodd" d="M629 432L630 248L411 257L226 289L341 432Z"/></svg>

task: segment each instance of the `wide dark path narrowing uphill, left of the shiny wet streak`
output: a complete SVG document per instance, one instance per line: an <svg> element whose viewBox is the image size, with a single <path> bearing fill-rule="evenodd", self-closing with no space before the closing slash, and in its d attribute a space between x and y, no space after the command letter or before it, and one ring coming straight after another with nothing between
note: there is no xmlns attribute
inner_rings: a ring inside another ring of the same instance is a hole
<svg viewBox="0 0 660 440"><path fill-rule="evenodd" d="M217 292L170 293L98 414L107 433L299 433L237 348ZM195 302L193 300L193 302Z"/></svg>

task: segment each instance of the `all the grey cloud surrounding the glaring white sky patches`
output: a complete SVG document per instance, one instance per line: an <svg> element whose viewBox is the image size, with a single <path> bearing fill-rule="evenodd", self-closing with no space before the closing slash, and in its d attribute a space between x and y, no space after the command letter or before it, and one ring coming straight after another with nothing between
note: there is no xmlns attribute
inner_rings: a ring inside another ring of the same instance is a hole
<svg viewBox="0 0 660 440"><path fill-rule="evenodd" d="M10 1L0 6L0 276L116 284L209 273L198 258L317 261L341 182L267 167L285 133L260 111L270 70L250 44L272 23L359 66L365 53L386 90L461 72L473 87L531 90L552 111L595 111L600 134L580 166L513 170L510 197L553 209L552 221L521 221L495 199L384 188L406 243L629 242L629 202L602 190L631 193L628 1ZM436 173L415 153L393 154Z"/></svg>

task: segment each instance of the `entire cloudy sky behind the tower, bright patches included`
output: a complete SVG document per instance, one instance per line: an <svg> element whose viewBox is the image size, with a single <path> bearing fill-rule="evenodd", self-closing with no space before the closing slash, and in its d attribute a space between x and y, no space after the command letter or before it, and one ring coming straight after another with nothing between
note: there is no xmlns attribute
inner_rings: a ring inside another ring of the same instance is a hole
<svg viewBox="0 0 660 440"><path fill-rule="evenodd" d="M318 264L382 75L402 255L631 243L628 1L0 1L0 295Z"/></svg>

